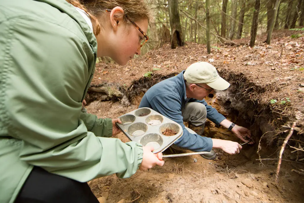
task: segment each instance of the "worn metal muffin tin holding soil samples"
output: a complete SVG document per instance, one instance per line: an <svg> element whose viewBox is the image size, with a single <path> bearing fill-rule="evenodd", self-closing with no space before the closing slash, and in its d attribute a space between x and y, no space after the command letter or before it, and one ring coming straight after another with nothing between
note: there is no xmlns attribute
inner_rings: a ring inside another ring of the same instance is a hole
<svg viewBox="0 0 304 203"><path fill-rule="evenodd" d="M139 108L119 117L116 126L131 140L143 146L153 146L153 153L163 152L183 135L181 125L150 108ZM165 129L177 134L163 135Z"/></svg>

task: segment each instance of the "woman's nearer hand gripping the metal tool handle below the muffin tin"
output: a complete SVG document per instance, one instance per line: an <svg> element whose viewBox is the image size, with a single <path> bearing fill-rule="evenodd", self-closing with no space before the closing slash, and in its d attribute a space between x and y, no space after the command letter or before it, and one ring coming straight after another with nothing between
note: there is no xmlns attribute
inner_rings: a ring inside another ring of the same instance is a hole
<svg viewBox="0 0 304 203"><path fill-rule="evenodd" d="M164 166L165 162L162 160L163 154L154 154L153 150L153 147L143 147L143 161L139 166L139 170L148 170L156 165Z"/></svg>

